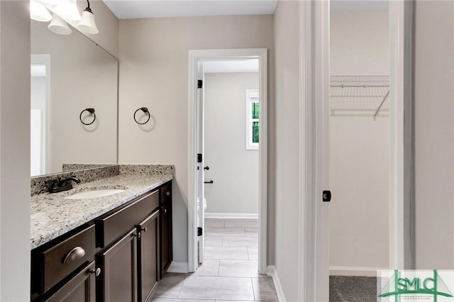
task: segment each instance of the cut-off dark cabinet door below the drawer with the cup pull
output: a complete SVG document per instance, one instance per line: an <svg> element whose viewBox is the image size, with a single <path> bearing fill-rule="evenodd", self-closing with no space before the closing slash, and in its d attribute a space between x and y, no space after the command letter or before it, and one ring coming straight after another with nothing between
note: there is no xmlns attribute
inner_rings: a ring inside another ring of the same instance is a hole
<svg viewBox="0 0 454 302"><path fill-rule="evenodd" d="M94 272L92 262L45 301L94 302L96 299Z"/></svg>

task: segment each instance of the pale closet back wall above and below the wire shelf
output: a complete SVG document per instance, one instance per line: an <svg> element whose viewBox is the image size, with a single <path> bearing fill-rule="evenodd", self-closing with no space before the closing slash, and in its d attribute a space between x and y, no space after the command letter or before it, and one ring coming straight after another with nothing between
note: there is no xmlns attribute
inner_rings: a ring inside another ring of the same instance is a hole
<svg viewBox="0 0 454 302"><path fill-rule="evenodd" d="M387 11L331 12L330 26L331 74L389 74ZM389 117L372 115L330 117L329 231L330 267L375 275L389 265Z"/></svg>

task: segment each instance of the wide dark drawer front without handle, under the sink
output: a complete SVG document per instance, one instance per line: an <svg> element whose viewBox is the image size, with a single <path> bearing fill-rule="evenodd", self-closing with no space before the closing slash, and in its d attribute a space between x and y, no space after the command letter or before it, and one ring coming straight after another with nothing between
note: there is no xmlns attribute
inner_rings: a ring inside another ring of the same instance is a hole
<svg viewBox="0 0 454 302"><path fill-rule="evenodd" d="M135 228L136 223L147 217L158 206L159 192L156 190L139 197L121 210L96 220L96 246L106 247L131 228Z"/></svg>

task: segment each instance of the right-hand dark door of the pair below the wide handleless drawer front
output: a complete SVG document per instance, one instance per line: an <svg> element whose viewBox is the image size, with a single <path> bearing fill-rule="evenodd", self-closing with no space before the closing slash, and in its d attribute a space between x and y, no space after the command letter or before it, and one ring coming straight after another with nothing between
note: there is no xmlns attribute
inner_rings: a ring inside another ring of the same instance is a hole
<svg viewBox="0 0 454 302"><path fill-rule="evenodd" d="M159 280L159 211L138 224L138 301L148 301Z"/></svg>

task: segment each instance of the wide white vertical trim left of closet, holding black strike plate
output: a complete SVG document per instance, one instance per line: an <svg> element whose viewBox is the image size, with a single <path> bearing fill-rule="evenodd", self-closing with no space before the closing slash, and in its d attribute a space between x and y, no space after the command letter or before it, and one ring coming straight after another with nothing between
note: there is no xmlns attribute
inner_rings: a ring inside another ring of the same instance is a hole
<svg viewBox="0 0 454 302"><path fill-rule="evenodd" d="M299 3L298 301L328 301L329 1Z"/></svg>

